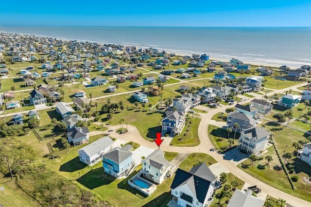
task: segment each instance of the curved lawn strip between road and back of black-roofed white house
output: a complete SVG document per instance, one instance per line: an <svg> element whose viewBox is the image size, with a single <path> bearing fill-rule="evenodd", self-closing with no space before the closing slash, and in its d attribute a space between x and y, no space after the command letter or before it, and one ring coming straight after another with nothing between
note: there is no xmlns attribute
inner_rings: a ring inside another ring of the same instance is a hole
<svg viewBox="0 0 311 207"><path fill-rule="evenodd" d="M185 171L189 171L197 164L205 162L207 166L217 163L217 161L211 156L204 153L191 153L180 165L179 168Z"/></svg>

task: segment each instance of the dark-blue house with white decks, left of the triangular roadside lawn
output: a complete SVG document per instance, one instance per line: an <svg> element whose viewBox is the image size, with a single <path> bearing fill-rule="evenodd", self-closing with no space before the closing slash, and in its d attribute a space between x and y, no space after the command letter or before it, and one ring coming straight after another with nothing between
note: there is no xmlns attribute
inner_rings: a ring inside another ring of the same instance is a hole
<svg viewBox="0 0 311 207"><path fill-rule="evenodd" d="M170 111L162 119L162 132L179 134L185 126L186 118L181 111Z"/></svg>

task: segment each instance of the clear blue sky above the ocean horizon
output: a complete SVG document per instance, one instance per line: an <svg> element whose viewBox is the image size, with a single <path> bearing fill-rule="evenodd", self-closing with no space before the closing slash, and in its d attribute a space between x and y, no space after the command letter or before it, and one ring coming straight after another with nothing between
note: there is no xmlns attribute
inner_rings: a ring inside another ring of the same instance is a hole
<svg viewBox="0 0 311 207"><path fill-rule="evenodd" d="M311 26L310 0L10 2L1 2L1 26Z"/></svg>

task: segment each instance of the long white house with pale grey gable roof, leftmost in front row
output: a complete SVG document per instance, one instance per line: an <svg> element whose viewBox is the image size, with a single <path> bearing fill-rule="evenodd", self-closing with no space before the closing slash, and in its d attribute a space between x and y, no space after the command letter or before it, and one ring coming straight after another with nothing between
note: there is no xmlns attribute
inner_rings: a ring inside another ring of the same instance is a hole
<svg viewBox="0 0 311 207"><path fill-rule="evenodd" d="M80 161L87 165L94 165L103 159L103 155L112 149L114 142L110 137L103 137L78 150Z"/></svg>

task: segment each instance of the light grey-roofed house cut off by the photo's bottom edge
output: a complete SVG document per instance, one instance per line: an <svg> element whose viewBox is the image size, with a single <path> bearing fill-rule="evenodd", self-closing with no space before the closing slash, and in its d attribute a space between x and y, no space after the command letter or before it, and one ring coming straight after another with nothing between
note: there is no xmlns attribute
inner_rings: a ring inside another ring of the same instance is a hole
<svg viewBox="0 0 311 207"><path fill-rule="evenodd" d="M241 191L236 189L230 198L227 207L263 207L264 200L253 196L252 190Z"/></svg>

